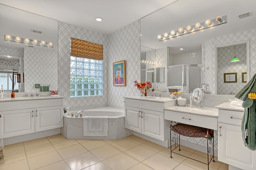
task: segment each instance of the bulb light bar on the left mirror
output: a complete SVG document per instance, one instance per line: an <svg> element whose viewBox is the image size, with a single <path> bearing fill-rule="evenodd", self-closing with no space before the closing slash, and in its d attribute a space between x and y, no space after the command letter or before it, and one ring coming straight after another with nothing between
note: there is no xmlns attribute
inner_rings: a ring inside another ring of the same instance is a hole
<svg viewBox="0 0 256 170"><path fill-rule="evenodd" d="M42 47L53 48L53 44L51 42L48 43L48 42L45 42L45 41L38 41L36 39L28 39L28 38L16 37L16 36L6 35L6 34L4 34L4 40L5 41L16 42L16 43L38 45L38 46L42 46Z"/></svg>

